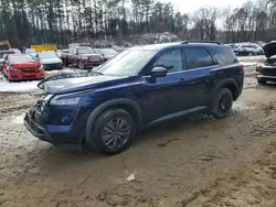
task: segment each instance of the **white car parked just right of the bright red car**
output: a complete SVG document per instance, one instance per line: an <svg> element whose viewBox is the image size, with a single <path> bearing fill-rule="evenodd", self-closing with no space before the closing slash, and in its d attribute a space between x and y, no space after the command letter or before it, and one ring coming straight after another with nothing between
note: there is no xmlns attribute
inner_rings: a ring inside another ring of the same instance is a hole
<svg viewBox="0 0 276 207"><path fill-rule="evenodd" d="M57 57L53 51L42 52L38 54L38 58L43 66L44 70L62 69L62 59Z"/></svg>

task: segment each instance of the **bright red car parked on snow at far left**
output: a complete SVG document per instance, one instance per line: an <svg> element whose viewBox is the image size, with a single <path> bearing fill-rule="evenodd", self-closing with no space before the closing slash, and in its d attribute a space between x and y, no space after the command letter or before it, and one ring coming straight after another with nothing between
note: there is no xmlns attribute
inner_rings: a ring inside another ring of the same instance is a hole
<svg viewBox="0 0 276 207"><path fill-rule="evenodd" d="M44 78L44 69L40 62L29 55L10 54L2 64L3 74L9 81Z"/></svg>

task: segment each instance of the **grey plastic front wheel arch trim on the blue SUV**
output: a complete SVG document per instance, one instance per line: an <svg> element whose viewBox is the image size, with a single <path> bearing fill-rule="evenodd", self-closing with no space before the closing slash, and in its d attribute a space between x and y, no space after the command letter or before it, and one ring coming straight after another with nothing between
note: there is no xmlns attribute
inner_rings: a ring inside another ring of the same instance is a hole
<svg viewBox="0 0 276 207"><path fill-rule="evenodd" d="M85 128L85 140L87 143L91 143L91 140L93 139L94 134L94 127L95 121L98 118L99 115L102 115L104 111L113 108L118 108L126 110L135 120L136 129L140 129L142 124L142 113L140 110L139 105L130 99L127 98L119 98L106 101L98 107L96 107L89 115L87 121L86 121L86 128Z"/></svg>

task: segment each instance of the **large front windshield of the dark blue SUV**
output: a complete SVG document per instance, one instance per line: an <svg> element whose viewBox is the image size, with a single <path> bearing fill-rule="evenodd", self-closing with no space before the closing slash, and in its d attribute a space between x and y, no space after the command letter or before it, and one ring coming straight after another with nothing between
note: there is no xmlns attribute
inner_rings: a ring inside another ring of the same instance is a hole
<svg viewBox="0 0 276 207"><path fill-rule="evenodd" d="M128 50L104 64L97 73L114 76L135 76L156 55L157 51Z"/></svg>

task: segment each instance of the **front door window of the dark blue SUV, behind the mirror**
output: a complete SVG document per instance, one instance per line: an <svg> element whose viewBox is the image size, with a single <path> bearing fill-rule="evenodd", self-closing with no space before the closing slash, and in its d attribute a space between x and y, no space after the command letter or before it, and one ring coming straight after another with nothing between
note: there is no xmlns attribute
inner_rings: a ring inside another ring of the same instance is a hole
<svg viewBox="0 0 276 207"><path fill-rule="evenodd" d="M182 55L180 50L166 51L158 57L153 67L161 66L168 69L169 73L180 72L183 69Z"/></svg>

